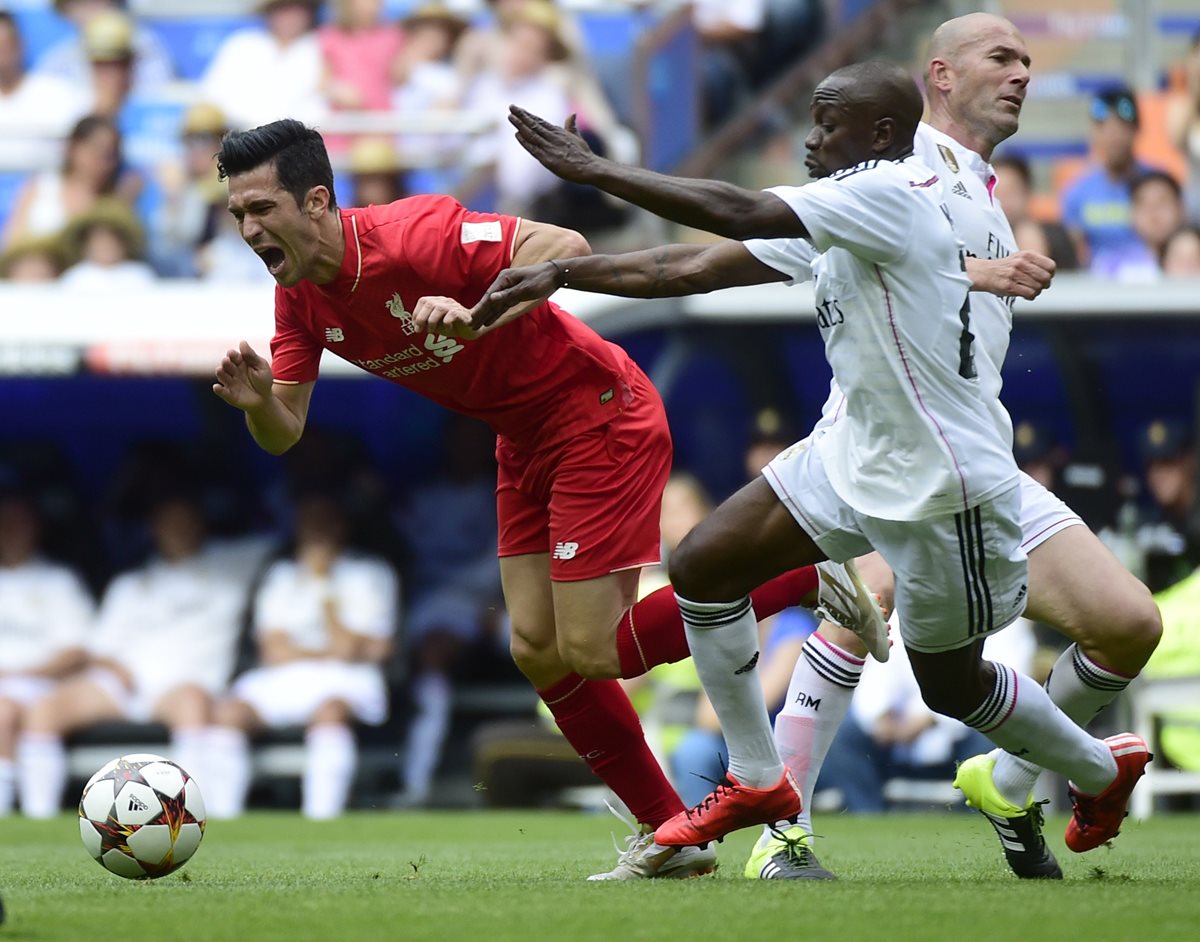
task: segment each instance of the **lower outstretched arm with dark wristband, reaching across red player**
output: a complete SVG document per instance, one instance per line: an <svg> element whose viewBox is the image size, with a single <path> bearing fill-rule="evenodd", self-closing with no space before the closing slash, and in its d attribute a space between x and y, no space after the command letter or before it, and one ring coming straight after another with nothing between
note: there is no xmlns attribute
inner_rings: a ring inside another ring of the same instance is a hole
<svg viewBox="0 0 1200 942"><path fill-rule="evenodd" d="M472 324L490 324L514 305L541 302L559 288L622 298L682 298L786 280L736 241L554 259L502 271L472 310Z"/></svg>

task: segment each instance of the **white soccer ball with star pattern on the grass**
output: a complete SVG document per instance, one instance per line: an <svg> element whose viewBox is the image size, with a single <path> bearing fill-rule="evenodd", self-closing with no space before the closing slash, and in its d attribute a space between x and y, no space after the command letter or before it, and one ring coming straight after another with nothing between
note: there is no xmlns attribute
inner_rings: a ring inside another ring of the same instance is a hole
<svg viewBox="0 0 1200 942"><path fill-rule="evenodd" d="M96 863L118 876L167 876L200 845L204 799L196 780L170 760L121 756L83 787L79 835Z"/></svg>

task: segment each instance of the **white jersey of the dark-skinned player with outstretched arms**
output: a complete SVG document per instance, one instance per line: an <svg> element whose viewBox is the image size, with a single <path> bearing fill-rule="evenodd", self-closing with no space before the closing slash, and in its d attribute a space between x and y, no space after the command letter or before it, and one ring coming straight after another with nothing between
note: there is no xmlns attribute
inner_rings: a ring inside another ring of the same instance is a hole
<svg viewBox="0 0 1200 942"><path fill-rule="evenodd" d="M970 281L937 184L910 157L768 191L820 252L817 325L845 403L815 445L838 494L882 520L958 512L1016 482L980 391ZM774 268L778 242L746 246Z"/></svg>

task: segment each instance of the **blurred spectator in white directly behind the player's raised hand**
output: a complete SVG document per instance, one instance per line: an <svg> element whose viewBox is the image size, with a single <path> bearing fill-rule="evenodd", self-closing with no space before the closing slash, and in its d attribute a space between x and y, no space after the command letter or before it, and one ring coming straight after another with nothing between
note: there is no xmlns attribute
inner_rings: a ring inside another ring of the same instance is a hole
<svg viewBox="0 0 1200 942"><path fill-rule="evenodd" d="M500 25L502 55L496 68L485 70L468 89L464 106L494 121L475 142L472 160L490 168L496 185L497 211L528 215L558 178L530 161L508 124L510 104L520 104L547 121L562 124L571 112L566 90L551 66L568 56L559 35L559 17L552 4L527 0Z"/></svg>

